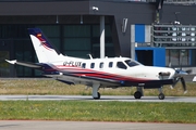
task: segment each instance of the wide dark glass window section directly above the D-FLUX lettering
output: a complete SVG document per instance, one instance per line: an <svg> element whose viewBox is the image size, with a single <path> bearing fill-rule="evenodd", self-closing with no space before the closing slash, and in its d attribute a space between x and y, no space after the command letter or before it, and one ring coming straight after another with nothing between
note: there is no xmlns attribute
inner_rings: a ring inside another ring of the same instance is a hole
<svg viewBox="0 0 196 130"><path fill-rule="evenodd" d="M90 25L64 25L63 27L63 53L87 57L90 54Z"/></svg>

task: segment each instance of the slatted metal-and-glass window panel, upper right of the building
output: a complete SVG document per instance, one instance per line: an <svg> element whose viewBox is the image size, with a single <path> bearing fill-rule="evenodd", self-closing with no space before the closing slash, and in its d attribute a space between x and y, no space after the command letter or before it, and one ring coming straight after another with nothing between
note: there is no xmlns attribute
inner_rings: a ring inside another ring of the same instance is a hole
<svg viewBox="0 0 196 130"><path fill-rule="evenodd" d="M196 47L196 26L154 25L155 47Z"/></svg>

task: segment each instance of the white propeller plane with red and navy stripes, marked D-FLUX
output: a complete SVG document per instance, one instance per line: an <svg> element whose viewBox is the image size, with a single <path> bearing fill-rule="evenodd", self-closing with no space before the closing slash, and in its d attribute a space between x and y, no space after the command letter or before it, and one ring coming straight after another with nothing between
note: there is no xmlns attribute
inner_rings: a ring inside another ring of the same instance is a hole
<svg viewBox="0 0 196 130"><path fill-rule="evenodd" d="M91 87L93 99L99 100L99 88L136 87L135 99L144 96L144 89L158 89L159 100L164 99L164 84L174 87L181 80L184 92L186 84L183 75L188 72L171 67L145 66L130 57L79 58L63 55L49 42L39 28L28 28L38 63L5 60L10 64L17 64L42 72L68 84L85 84Z"/></svg>

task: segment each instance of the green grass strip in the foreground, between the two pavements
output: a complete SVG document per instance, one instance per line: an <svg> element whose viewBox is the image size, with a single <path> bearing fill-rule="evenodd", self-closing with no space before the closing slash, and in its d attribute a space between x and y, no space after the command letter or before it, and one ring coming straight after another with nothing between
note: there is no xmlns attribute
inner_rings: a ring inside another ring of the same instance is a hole
<svg viewBox="0 0 196 130"><path fill-rule="evenodd" d="M196 104L95 101L1 101L0 119L196 123Z"/></svg>

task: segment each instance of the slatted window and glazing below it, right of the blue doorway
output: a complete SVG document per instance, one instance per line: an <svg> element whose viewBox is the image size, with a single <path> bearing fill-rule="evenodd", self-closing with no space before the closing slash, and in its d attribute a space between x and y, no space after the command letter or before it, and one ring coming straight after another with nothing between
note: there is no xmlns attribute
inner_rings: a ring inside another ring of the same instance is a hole
<svg viewBox="0 0 196 130"><path fill-rule="evenodd" d="M152 43L166 48L166 66L196 66L196 26L154 25Z"/></svg>

